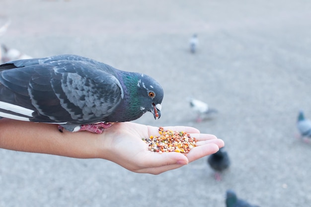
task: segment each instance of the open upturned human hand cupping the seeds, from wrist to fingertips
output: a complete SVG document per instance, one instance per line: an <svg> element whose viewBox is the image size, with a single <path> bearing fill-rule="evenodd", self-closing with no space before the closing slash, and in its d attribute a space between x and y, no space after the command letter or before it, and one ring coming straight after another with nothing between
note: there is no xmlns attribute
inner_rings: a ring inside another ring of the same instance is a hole
<svg viewBox="0 0 311 207"><path fill-rule="evenodd" d="M142 138L159 135L158 127L133 122L115 123L102 133L102 158L115 162L137 173L160 174L179 168L194 160L213 154L224 146L221 139L211 134L201 134L187 126L169 126L164 130L185 131L198 142L186 156L178 152L157 153L148 150Z"/></svg>

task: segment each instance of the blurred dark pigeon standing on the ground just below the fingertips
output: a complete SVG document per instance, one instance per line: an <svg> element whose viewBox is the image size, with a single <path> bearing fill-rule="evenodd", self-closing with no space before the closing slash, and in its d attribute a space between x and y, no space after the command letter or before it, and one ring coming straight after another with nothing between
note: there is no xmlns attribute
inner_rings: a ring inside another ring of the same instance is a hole
<svg viewBox="0 0 311 207"><path fill-rule="evenodd" d="M221 175L224 170L228 169L230 166L230 159L227 151L223 148L220 148L218 152L210 155L207 159L208 164L213 170L215 170L215 179L217 181L221 180Z"/></svg>

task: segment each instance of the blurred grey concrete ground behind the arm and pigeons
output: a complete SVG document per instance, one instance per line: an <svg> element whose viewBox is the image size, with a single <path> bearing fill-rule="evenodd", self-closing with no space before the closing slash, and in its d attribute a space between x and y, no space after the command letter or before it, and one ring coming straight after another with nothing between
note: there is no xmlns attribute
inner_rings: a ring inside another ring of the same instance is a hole
<svg viewBox="0 0 311 207"><path fill-rule="evenodd" d="M164 88L162 116L225 140L223 180L202 158L160 175L99 159L0 150L1 207L225 207L229 188L261 207L311 205L311 2L307 0L0 0L0 42L33 57L72 53L144 72ZM199 37L196 54L188 41ZM196 123L186 97L219 110Z"/></svg>

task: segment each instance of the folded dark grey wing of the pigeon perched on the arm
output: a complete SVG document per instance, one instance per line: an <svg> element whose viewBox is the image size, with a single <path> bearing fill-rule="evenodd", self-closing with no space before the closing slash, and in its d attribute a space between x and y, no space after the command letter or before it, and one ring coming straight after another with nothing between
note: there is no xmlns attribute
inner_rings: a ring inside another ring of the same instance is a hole
<svg viewBox="0 0 311 207"><path fill-rule="evenodd" d="M108 116L123 98L119 81L100 68L104 64L68 59L54 56L2 65L0 103L6 108L0 104L0 116L7 113L36 122L77 124Z"/></svg>

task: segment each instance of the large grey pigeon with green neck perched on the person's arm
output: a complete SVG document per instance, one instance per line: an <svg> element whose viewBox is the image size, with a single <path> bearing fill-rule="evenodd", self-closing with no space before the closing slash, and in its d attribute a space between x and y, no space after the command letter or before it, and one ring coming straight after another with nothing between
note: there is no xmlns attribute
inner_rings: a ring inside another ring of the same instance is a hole
<svg viewBox="0 0 311 207"><path fill-rule="evenodd" d="M0 65L0 117L101 133L113 122L161 115L163 89L148 75L78 55Z"/></svg>

